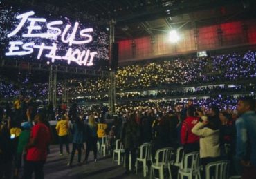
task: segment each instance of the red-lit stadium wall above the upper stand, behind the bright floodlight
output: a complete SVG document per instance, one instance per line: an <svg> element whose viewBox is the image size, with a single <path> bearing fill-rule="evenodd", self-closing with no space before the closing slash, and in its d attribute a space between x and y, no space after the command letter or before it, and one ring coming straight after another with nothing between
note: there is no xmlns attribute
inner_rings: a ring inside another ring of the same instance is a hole
<svg viewBox="0 0 256 179"><path fill-rule="evenodd" d="M180 39L170 43L168 33L118 41L119 63L157 59L201 50L217 50L256 44L256 21L235 21L179 31Z"/></svg>

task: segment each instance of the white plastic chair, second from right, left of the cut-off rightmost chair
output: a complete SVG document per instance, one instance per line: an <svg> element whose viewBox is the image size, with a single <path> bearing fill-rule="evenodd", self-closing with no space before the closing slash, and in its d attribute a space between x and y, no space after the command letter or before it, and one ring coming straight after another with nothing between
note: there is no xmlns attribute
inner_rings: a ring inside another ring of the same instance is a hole
<svg viewBox="0 0 256 179"><path fill-rule="evenodd" d="M190 163L188 163L190 161ZM178 179L184 178L186 176L188 179L200 178L200 169L199 169L199 151L194 151L188 154L185 154L182 165L178 171Z"/></svg>

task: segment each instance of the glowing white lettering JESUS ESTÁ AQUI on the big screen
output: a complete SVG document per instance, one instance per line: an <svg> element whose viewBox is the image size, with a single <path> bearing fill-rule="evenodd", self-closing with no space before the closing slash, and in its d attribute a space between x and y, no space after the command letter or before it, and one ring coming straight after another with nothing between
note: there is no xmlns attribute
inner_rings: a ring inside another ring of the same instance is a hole
<svg viewBox="0 0 256 179"><path fill-rule="evenodd" d="M64 25L63 30L63 21L51 21L47 23L44 18L33 17L34 14L35 12L30 11L17 15L16 19L20 19L19 24L15 27L15 30L12 30L12 32L7 35L7 37L12 38L12 36L17 36L18 33L21 33L23 38L28 38L30 41L26 41L26 43L23 41L9 41L6 56L25 56L36 51L37 59L41 59L42 54L45 52L46 54L44 56L51 59L52 63L54 63L55 60L64 60L67 61L68 64L73 61L78 65L93 65L93 58L97 52L91 52L89 48L82 50L74 48L74 45L84 45L84 47L86 47L87 44L93 41L93 36L91 35L93 28L83 28L82 30L79 30L80 24L75 22L73 26L70 24ZM27 30L26 34L23 33L24 31L22 29ZM33 39L38 38L60 38L61 41L57 41L57 43L54 41L51 44L33 41ZM60 50L63 50L58 47L58 43L60 42L68 45L68 50L66 50L65 54L58 54Z"/></svg>

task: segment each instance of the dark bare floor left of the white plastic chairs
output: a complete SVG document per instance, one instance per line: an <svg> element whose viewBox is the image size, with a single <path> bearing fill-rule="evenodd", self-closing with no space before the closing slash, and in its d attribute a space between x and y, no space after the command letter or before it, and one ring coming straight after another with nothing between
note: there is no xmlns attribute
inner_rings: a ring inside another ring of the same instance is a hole
<svg viewBox="0 0 256 179"><path fill-rule="evenodd" d="M71 146L70 146L71 147ZM138 175L129 174L125 175L125 168L123 165L117 165L117 163L112 163L112 158L109 156L107 158L102 158L98 156L98 161L93 161L93 152L89 154L89 163L86 165L77 165L77 155L73 160L73 167L68 167L67 163L69 161L68 155L64 153L63 156L59 156L58 145L51 145L51 153L48 155L46 164L44 165L44 174L46 179L104 179L104 178L143 178L143 172L141 169L138 171ZM70 148L72 149L72 148ZM65 152L64 147L64 152ZM82 153L82 160L84 160L85 154ZM149 176L147 176L149 178Z"/></svg>

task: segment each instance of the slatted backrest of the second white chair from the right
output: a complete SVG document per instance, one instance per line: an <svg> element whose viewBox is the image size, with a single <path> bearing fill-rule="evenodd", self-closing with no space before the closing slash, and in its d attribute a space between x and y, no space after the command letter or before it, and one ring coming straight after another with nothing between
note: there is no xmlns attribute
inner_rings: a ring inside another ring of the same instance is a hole
<svg viewBox="0 0 256 179"><path fill-rule="evenodd" d="M185 154L183 159L183 169L191 169L192 172L199 170L199 151L190 152Z"/></svg>

